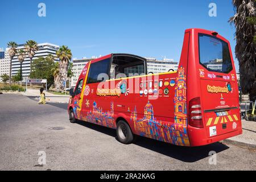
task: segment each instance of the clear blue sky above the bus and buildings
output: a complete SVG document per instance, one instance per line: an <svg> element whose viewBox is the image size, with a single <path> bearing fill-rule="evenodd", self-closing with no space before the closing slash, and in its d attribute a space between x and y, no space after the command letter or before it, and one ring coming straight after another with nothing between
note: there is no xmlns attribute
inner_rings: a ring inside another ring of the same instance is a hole
<svg viewBox="0 0 256 182"><path fill-rule="evenodd" d="M40 2L46 17L38 16ZM208 15L212 2L217 17ZM77 58L125 52L179 60L185 29L204 28L228 39L235 57L233 15L232 0L1 1L0 47L32 39L66 45Z"/></svg>

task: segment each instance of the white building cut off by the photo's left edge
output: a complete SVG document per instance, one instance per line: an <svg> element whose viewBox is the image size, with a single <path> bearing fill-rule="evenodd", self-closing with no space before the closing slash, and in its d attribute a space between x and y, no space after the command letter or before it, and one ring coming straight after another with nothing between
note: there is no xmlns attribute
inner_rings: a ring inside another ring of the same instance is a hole
<svg viewBox="0 0 256 182"><path fill-rule="evenodd" d="M10 73L10 56L9 52L3 51L0 49L0 76L2 75L9 75ZM0 82L2 82L2 78L0 77Z"/></svg>

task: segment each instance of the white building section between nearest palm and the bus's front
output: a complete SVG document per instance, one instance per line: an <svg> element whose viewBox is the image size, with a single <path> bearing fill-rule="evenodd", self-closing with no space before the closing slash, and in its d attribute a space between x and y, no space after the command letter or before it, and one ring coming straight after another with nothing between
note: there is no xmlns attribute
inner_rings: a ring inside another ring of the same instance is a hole
<svg viewBox="0 0 256 182"><path fill-rule="evenodd" d="M93 59L96 59L96 58L88 59L88 58L84 57L82 59L73 59L73 68L72 68L73 76L71 77L71 87L76 86L76 82L82 72L82 69L84 69L85 64Z"/></svg>

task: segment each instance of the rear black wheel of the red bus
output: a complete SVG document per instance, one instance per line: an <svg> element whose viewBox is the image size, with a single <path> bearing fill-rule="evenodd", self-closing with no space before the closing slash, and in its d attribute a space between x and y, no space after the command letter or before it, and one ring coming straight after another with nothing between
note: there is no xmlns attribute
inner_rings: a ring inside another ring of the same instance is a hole
<svg viewBox="0 0 256 182"><path fill-rule="evenodd" d="M125 121L117 123L117 139L123 144L130 144L134 141L134 135L130 126Z"/></svg>

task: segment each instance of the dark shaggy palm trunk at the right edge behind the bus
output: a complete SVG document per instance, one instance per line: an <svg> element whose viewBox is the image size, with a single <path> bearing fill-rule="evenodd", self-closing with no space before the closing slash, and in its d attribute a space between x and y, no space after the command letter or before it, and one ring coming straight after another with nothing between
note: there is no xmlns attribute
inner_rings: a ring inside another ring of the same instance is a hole
<svg viewBox="0 0 256 182"><path fill-rule="evenodd" d="M256 96L256 1L233 0L236 14L229 19L236 27L236 57L240 65L243 93L249 93L251 101Z"/></svg>

